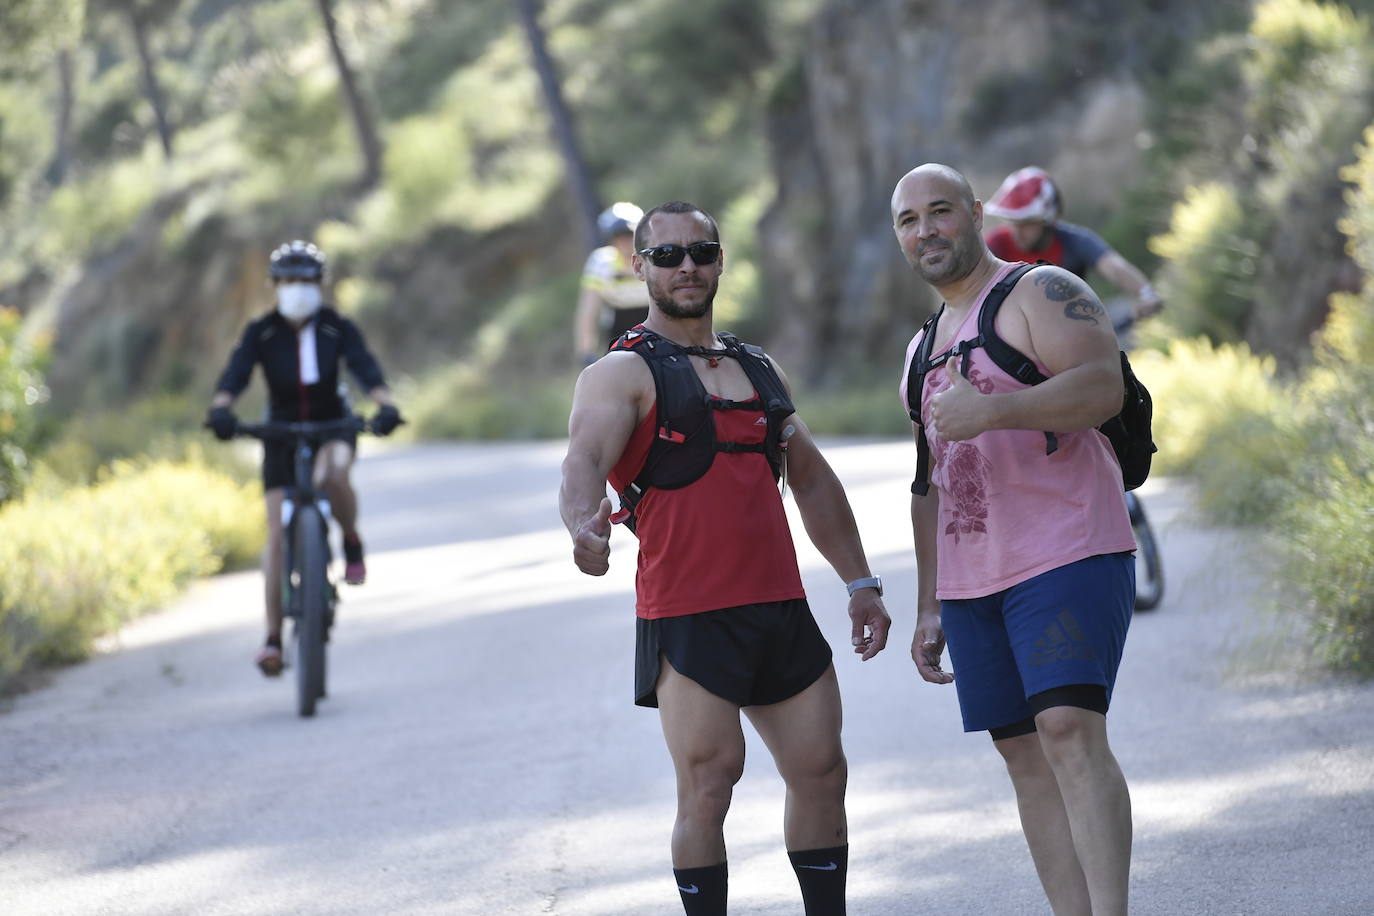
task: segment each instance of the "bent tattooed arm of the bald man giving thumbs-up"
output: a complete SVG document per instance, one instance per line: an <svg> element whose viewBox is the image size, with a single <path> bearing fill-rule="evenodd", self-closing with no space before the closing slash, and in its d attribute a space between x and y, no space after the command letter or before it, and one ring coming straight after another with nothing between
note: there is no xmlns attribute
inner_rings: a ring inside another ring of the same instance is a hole
<svg viewBox="0 0 1374 916"><path fill-rule="evenodd" d="M1102 302L1068 271L1037 268L1007 297L998 332L1036 358L1050 378L1026 389L980 394L945 364L951 387L932 398L932 417L947 441L988 430L1092 428L1121 409L1121 363Z"/></svg>

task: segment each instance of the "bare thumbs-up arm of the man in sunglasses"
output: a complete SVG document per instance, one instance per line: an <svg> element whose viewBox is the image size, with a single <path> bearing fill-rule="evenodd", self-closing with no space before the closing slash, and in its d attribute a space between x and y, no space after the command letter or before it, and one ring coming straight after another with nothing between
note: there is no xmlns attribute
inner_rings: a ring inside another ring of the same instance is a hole
<svg viewBox="0 0 1374 916"><path fill-rule="evenodd" d="M610 569L606 474L635 431L646 379L651 398L649 369L633 353L621 353L583 369L573 390L558 511L573 537L573 562L588 575Z"/></svg>

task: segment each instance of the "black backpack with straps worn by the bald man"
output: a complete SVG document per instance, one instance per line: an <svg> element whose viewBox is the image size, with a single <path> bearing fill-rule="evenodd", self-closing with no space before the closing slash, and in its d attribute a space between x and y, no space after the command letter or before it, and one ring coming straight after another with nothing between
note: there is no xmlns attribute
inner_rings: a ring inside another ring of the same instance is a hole
<svg viewBox="0 0 1374 916"><path fill-rule="evenodd" d="M921 328L921 343L916 346L916 353L911 357L911 367L907 371L907 411L916 424L916 478L911 482L911 492L916 496L925 496L930 489L930 445L926 442L926 428L921 422L921 394L926 383L926 374L943 365L947 358L958 356L963 361L960 371L967 376L967 354L970 350L981 346L1003 372L1018 382L1039 385L1046 380L1046 375L1036 368L1035 363L1021 353L1021 350L998 336L995 330L998 309L1002 308L1002 302L1011 293L1011 287L1036 266L1039 265L1022 264L992 287L978 312L978 336L971 341L959 341L938 360L930 360L930 350L934 347L936 324L944 313L944 305L940 306L938 312L926 319L925 325ZM1121 482L1125 485L1125 489L1134 490L1145 483L1145 479L1150 475L1150 460L1158 449L1150 437L1150 419L1154 413L1154 405L1145 385L1140 383L1140 379L1135 378L1131 361L1125 357L1125 350L1121 350L1121 380L1125 385L1121 412L1099 426L1098 430L1112 442L1112 450L1116 452L1117 463L1121 466ZM1044 442L1046 455L1054 455L1055 449L1059 448L1059 441L1054 433L1047 431Z"/></svg>

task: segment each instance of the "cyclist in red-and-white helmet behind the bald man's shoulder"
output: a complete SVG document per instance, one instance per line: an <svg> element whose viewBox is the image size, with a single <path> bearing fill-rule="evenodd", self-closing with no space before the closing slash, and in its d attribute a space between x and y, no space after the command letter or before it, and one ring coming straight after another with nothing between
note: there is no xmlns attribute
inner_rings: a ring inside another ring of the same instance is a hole
<svg viewBox="0 0 1374 916"><path fill-rule="evenodd" d="M1138 266L1092 229L1059 220L1062 209L1059 188L1044 169L1013 172L984 205L984 213L1006 220L988 232L988 249L1003 261L1048 261L1080 277L1096 271L1134 299L1138 319L1164 308Z"/></svg>

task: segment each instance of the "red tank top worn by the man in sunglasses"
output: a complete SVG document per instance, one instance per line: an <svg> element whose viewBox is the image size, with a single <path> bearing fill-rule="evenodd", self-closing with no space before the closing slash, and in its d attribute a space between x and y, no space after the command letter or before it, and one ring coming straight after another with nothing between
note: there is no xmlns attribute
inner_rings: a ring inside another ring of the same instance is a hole
<svg viewBox="0 0 1374 916"><path fill-rule="evenodd" d="M763 442L761 411L714 411L716 438ZM654 441L650 411L611 468L621 492ZM787 514L768 459L717 452L710 468L676 490L650 489L636 507L635 612L654 619L805 597Z"/></svg>

